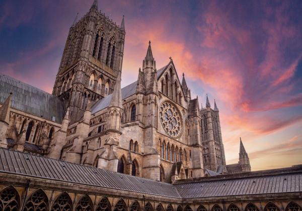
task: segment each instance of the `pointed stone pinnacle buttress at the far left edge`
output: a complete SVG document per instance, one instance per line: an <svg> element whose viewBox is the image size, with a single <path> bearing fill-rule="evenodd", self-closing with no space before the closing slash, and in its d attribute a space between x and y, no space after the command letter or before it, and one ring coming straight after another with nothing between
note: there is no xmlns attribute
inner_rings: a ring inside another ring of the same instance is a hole
<svg viewBox="0 0 302 211"><path fill-rule="evenodd" d="M0 108L0 147L5 147L5 148L8 146L6 133L10 121L12 94L13 94L12 92L9 94L8 98L5 100L2 107Z"/></svg>

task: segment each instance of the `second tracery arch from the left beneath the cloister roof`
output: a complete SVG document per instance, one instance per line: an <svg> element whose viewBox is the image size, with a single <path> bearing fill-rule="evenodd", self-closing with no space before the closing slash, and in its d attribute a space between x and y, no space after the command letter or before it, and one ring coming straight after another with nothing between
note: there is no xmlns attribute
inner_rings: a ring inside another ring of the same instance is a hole
<svg viewBox="0 0 302 211"><path fill-rule="evenodd" d="M31 196L27 199L26 204L24 206L24 211L40 211L40 210L48 210L48 198L46 194L41 190L35 191Z"/></svg>

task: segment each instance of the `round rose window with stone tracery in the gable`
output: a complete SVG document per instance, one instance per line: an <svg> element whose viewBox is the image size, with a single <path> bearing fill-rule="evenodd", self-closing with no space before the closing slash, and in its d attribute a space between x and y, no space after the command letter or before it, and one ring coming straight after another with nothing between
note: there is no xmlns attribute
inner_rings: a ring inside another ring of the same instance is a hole
<svg viewBox="0 0 302 211"><path fill-rule="evenodd" d="M161 104L160 118L166 133L177 138L182 132L182 120L178 109L169 101Z"/></svg>

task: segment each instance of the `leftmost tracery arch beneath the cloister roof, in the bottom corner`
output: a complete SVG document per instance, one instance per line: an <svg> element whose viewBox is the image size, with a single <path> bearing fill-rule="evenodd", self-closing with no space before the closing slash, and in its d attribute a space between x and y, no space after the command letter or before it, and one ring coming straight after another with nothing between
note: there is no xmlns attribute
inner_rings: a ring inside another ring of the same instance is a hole
<svg viewBox="0 0 302 211"><path fill-rule="evenodd" d="M20 199L17 190L12 187L6 187L0 192L0 210L18 211Z"/></svg>

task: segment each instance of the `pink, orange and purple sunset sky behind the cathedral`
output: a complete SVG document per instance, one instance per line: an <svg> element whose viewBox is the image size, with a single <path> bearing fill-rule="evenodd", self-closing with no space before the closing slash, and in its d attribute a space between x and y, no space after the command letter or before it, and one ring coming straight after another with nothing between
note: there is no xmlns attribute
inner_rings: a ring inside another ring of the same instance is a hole
<svg viewBox="0 0 302 211"><path fill-rule="evenodd" d="M68 30L92 2L1 1L0 72L51 93ZM99 10L118 25L125 15L122 86L150 40L157 69L171 56L200 105L216 99L227 164L240 137L252 170L302 164L301 1L99 0Z"/></svg>

